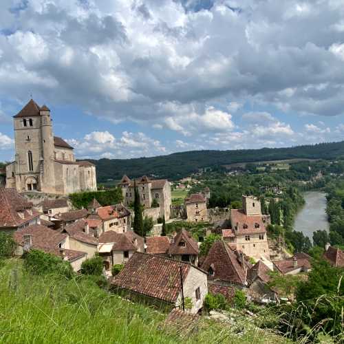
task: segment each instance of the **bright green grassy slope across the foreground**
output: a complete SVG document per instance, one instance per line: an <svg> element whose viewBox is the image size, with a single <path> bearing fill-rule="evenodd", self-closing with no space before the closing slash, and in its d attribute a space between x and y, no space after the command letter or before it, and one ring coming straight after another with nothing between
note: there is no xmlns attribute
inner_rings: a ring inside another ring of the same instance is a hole
<svg viewBox="0 0 344 344"><path fill-rule="evenodd" d="M286 343L246 323L203 319L197 334L164 329L165 314L109 294L91 279L66 281L0 261L0 343Z"/></svg>

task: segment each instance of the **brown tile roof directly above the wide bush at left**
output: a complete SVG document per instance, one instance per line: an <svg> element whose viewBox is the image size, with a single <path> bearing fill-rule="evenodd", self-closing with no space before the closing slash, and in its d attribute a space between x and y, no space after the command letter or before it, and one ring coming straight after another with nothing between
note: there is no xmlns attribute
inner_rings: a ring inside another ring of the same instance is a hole
<svg viewBox="0 0 344 344"><path fill-rule="evenodd" d="M58 248L58 244L65 240L67 235L56 230L47 228L40 224L28 226L13 233L14 240L17 244L23 246L23 236L31 235L33 248Z"/></svg>

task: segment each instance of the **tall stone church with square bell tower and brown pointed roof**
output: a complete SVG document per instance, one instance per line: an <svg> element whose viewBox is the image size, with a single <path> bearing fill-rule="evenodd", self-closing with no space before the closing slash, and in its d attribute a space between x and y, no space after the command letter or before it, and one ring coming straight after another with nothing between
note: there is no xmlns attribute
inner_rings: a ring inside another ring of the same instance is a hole
<svg viewBox="0 0 344 344"><path fill-rule="evenodd" d="M30 100L14 116L15 161L6 166L6 188L67 195L96 191L96 166L76 161L73 147L53 136L50 109Z"/></svg>

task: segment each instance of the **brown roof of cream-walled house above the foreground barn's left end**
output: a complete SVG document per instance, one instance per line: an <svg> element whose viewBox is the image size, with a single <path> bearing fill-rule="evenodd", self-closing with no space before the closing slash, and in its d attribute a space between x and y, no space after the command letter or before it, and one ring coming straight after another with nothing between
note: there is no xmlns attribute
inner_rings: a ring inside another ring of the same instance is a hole
<svg viewBox="0 0 344 344"><path fill-rule="evenodd" d="M125 233L117 233L114 230L107 230L99 237L99 246L101 244L114 243L112 250L120 251L136 251L139 246L142 248L144 239L137 235L133 231L127 231Z"/></svg>

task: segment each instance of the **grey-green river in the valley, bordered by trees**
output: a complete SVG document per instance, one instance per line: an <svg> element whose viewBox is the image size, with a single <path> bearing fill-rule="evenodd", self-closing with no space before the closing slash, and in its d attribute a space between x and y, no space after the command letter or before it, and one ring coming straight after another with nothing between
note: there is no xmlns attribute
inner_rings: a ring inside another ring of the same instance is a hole
<svg viewBox="0 0 344 344"><path fill-rule="evenodd" d="M308 191L303 194L305 206L299 211L294 222L294 230L302 232L312 241L313 232L327 230L329 224L326 215L326 194L319 191Z"/></svg>

